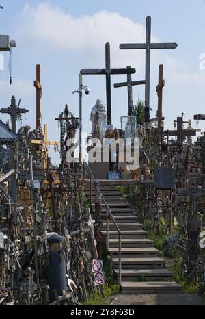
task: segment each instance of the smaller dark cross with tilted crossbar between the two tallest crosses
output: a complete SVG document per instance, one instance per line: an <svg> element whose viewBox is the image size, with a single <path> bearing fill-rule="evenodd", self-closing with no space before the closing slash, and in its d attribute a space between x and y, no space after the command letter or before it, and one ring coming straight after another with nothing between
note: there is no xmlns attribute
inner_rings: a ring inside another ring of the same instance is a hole
<svg viewBox="0 0 205 319"><path fill-rule="evenodd" d="M128 70L131 70L131 66L126 67ZM122 83L115 83L114 88L122 88L122 86L127 86L128 93L128 116L132 116L133 112L133 86L140 86L145 84L145 81L132 81L131 73L127 73L127 81Z"/></svg>

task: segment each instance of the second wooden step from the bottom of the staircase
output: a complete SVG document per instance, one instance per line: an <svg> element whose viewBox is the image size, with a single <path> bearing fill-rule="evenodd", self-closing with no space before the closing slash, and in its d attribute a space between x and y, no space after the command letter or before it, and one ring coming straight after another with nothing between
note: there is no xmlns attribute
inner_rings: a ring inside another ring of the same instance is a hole
<svg viewBox="0 0 205 319"><path fill-rule="evenodd" d="M114 274L118 278L119 270L114 269ZM172 279L172 271L163 269L122 269L121 277L122 281L137 281L141 277L145 278L145 281L166 281Z"/></svg>

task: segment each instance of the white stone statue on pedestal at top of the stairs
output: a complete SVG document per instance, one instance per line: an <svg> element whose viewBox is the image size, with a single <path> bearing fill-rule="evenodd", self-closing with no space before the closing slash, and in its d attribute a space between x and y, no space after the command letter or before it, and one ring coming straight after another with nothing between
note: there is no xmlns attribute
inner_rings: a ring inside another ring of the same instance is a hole
<svg viewBox="0 0 205 319"><path fill-rule="evenodd" d="M97 99L96 105L92 107L90 120L92 121L92 136L100 139L105 138L107 112L105 106L102 104L102 100Z"/></svg>

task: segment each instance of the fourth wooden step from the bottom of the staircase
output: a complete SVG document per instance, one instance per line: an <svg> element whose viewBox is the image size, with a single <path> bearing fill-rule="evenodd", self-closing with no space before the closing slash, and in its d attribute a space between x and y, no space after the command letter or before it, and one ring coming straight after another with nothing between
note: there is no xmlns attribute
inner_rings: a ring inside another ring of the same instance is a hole
<svg viewBox="0 0 205 319"><path fill-rule="evenodd" d="M109 254L112 255L113 258L119 255L118 248L109 248ZM159 251L154 247L121 248L121 255L123 258L159 257Z"/></svg>

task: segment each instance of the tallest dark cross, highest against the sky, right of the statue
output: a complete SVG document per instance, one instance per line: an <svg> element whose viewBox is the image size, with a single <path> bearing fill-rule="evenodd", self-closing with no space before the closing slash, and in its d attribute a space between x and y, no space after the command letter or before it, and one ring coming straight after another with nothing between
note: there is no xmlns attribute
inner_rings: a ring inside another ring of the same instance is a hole
<svg viewBox="0 0 205 319"><path fill-rule="evenodd" d="M151 49L176 49L176 43L151 43L151 17L146 18L146 43L120 44L120 49L146 49L145 121L150 120L150 55Z"/></svg>

